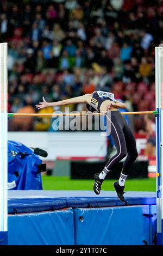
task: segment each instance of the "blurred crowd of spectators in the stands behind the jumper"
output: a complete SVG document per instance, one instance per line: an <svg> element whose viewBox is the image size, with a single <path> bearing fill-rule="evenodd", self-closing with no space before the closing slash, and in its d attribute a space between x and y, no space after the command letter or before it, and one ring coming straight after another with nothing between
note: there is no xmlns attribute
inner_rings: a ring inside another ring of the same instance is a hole
<svg viewBox="0 0 163 256"><path fill-rule="evenodd" d="M1 1L7 41L8 112L109 90L129 111L155 109L154 47L162 0ZM75 110L75 106L72 107ZM77 106L81 110L81 106ZM143 127L135 117L135 131Z"/></svg>

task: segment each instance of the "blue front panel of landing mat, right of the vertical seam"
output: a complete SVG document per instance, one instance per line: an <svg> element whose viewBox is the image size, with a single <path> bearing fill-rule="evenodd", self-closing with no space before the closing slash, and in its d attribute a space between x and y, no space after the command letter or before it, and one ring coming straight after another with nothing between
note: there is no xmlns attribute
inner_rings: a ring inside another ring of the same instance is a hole
<svg viewBox="0 0 163 256"><path fill-rule="evenodd" d="M75 244L149 245L154 240L149 207L74 209Z"/></svg>

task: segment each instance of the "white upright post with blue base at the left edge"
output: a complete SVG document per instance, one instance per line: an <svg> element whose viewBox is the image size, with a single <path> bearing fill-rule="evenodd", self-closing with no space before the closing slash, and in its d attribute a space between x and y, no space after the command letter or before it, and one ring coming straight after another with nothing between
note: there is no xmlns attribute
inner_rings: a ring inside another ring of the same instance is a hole
<svg viewBox="0 0 163 256"><path fill-rule="evenodd" d="M7 87L8 87L8 44L0 44L0 245L7 244L8 208L7 208L7 182L8 182L8 113L7 113Z"/></svg>

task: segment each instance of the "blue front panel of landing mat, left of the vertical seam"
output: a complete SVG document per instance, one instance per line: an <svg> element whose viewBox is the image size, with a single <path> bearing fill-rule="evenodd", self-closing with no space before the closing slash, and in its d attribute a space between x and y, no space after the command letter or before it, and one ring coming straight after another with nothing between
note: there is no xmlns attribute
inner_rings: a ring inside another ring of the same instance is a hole
<svg viewBox="0 0 163 256"><path fill-rule="evenodd" d="M74 245L73 210L8 216L9 245Z"/></svg>

